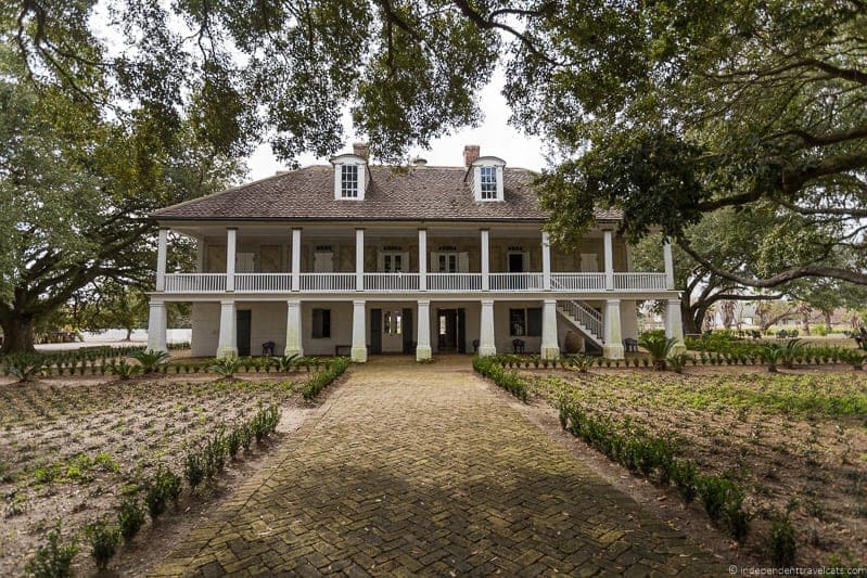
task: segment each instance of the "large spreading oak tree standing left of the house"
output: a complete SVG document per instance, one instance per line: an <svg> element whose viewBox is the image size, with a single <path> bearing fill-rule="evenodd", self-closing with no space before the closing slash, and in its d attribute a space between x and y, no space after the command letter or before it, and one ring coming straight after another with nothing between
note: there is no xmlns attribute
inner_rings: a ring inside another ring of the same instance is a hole
<svg viewBox="0 0 867 578"><path fill-rule="evenodd" d="M150 287L161 206L219 190L234 162L179 124L125 121L22 76L0 44L0 327L3 352L33 348L34 330L74 295L111 280ZM182 243L175 257L189 258Z"/></svg>

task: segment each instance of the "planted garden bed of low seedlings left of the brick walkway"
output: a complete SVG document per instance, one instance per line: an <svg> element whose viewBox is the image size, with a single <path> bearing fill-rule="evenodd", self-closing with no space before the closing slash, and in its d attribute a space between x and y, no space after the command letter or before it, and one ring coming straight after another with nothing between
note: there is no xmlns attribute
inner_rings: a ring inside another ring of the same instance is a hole
<svg viewBox="0 0 867 578"><path fill-rule="evenodd" d="M252 421L263 408L279 408L272 437L285 435L304 414L299 390L308 374L94 378L0 386L0 575L20 575L59 521L64 542L78 536L76 567L92 571L85 525L103 518L115 524L118 505L142 497L160 465L183 477L188 450L197 451L224 426L229 433ZM220 479L233 479L234 470L258 460L271 444L264 437L237 460L227 457L226 472L195 493L208 494ZM189 505L187 485L183 492Z"/></svg>

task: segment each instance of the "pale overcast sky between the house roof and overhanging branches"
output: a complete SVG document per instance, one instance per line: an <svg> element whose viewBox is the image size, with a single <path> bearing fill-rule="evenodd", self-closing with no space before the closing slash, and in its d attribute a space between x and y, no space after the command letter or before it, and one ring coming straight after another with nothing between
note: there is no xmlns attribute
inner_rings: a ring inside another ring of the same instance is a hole
<svg viewBox="0 0 867 578"><path fill-rule="evenodd" d="M433 141L431 150L410 151L411 156L422 156L430 165L460 166L463 164L463 145L479 144L483 155L496 155L506 160L507 166L540 170L545 167L543 143L535 137L523 134L508 125L509 107L500 94L502 74L498 72L494 79L481 93L481 107L485 114L477 128L464 129L449 137ZM347 127L347 133L352 133ZM346 151L352 150L352 139L346 143ZM302 166L328 163L328 158L303 155ZM262 179L272 176L285 167L271 153L269 143L259 145L247 159L250 175L246 180Z"/></svg>

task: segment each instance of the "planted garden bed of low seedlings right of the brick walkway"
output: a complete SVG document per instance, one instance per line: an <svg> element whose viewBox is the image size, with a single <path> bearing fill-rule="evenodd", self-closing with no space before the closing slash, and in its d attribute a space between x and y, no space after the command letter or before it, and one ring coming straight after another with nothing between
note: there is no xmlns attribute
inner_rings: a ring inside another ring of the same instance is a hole
<svg viewBox="0 0 867 578"><path fill-rule="evenodd" d="M531 399L576 403L651 436L745 491L751 531L739 547L768 561L772 521L790 511L800 565L867 561L867 375L845 365L772 374L761 367L521 370ZM653 477L653 476L652 476ZM721 531L724 531L721 529ZM732 547L734 547L734 540Z"/></svg>

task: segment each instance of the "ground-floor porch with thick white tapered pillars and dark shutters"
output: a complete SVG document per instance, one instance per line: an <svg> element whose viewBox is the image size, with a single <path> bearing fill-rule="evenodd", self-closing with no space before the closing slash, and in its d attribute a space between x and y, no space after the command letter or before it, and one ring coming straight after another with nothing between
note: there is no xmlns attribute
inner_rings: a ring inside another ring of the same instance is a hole
<svg viewBox="0 0 867 578"><path fill-rule="evenodd" d="M667 303L666 318L679 316ZM668 319L666 319L668 321ZM165 301L151 300L149 348L165 349ZM666 322L681 337L679 320ZM369 355L599 352L622 359L637 339L636 303L626 299L332 299L194 301L192 355Z"/></svg>

